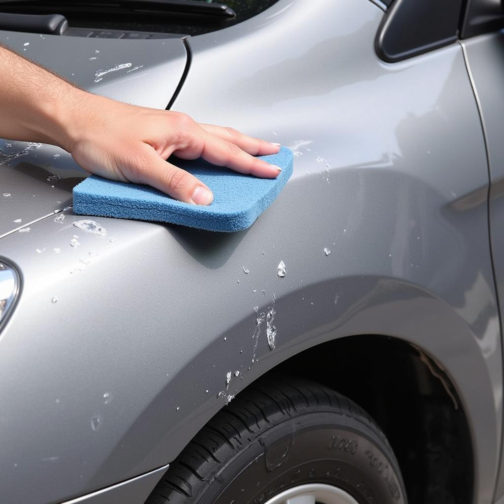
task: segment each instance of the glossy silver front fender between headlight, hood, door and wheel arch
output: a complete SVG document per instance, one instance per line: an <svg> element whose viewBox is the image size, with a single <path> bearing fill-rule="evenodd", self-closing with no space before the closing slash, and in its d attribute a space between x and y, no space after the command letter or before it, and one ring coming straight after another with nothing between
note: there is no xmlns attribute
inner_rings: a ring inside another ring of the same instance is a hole
<svg viewBox="0 0 504 504"><path fill-rule="evenodd" d="M62 501L161 467L228 396L353 334L401 338L443 366L471 427L475 502L492 501L502 363L478 108L458 44L381 62L382 16L367 0L280 0L188 40L173 108L299 153L249 230L99 218L98 236L67 210L0 240L23 275L0 340L7 501ZM29 195L16 199L28 212ZM271 350L255 307L273 303Z"/></svg>

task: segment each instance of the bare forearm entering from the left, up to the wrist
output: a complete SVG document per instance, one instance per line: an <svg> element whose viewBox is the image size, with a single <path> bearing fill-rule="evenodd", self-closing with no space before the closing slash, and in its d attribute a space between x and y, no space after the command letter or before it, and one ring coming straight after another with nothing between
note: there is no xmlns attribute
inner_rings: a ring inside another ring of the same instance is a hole
<svg viewBox="0 0 504 504"><path fill-rule="evenodd" d="M85 91L0 46L0 137L69 149L70 116Z"/></svg>

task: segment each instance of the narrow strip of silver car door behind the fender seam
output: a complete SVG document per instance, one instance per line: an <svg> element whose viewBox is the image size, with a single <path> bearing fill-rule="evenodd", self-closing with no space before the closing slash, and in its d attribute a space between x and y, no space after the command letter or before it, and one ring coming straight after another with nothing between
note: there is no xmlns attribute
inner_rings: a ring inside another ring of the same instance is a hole
<svg viewBox="0 0 504 504"><path fill-rule="evenodd" d="M504 309L504 144L502 125L504 118L504 34L500 32L481 35L464 41L471 76L477 92L488 146L490 167L490 230L493 249L495 282L499 294L500 313ZM504 466L496 488L496 497L504 494Z"/></svg>

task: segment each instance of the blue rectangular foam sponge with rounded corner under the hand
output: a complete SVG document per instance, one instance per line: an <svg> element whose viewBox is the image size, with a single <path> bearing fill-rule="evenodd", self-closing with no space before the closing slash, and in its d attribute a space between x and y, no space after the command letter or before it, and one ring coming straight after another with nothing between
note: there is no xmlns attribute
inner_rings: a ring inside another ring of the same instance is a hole
<svg viewBox="0 0 504 504"><path fill-rule="evenodd" d="M92 175L74 187L74 212L81 215L170 222L209 231L232 232L250 227L273 203L292 175L292 151L260 156L282 168L277 178L257 178L203 159L175 160L214 194L207 207L174 200L147 185L115 182Z"/></svg>

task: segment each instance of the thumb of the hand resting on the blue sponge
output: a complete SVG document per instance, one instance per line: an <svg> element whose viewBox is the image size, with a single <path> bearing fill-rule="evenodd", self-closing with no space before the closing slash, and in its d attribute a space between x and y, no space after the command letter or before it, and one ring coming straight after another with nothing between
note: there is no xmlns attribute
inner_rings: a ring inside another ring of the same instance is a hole
<svg viewBox="0 0 504 504"><path fill-rule="evenodd" d="M153 150L135 182L151 185L175 200L194 205L210 205L212 191L191 173L168 163Z"/></svg>

